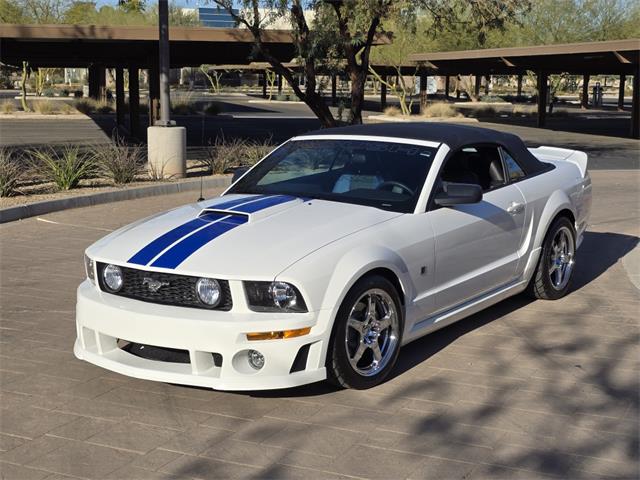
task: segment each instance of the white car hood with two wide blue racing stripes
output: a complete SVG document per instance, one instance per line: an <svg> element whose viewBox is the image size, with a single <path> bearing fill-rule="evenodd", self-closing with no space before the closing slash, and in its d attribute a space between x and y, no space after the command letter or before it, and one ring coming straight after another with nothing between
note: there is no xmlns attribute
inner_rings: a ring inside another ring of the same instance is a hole
<svg viewBox="0 0 640 480"><path fill-rule="evenodd" d="M226 195L128 225L87 253L145 270L271 280L315 250L399 215L287 195Z"/></svg>

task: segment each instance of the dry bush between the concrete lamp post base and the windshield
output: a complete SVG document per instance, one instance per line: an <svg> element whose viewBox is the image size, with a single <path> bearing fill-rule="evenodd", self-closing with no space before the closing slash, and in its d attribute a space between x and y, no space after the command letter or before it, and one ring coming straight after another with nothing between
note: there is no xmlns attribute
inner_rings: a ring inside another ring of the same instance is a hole
<svg viewBox="0 0 640 480"><path fill-rule="evenodd" d="M207 148L202 164L211 173L226 173L233 166L255 164L272 149L270 138L260 142L241 138L227 140L219 135Z"/></svg>

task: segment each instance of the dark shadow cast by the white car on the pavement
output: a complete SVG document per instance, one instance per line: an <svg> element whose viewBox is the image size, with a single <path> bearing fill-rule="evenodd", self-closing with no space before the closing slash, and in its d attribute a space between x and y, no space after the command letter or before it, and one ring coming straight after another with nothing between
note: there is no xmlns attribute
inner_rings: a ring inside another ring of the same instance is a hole
<svg viewBox="0 0 640 480"><path fill-rule="evenodd" d="M576 270L571 291L577 291L600 277L638 244L638 237L610 232L586 232L578 250ZM571 293L569 294L571 295ZM544 302L543 300L538 300ZM416 365L428 361L458 338L534 302L525 294L503 300L485 310L471 315L448 327L426 335L404 346L398 362L387 378L390 381ZM244 392L255 397L313 397L338 390L328 382L318 382L302 387L262 392ZM242 394L242 393L240 393Z"/></svg>

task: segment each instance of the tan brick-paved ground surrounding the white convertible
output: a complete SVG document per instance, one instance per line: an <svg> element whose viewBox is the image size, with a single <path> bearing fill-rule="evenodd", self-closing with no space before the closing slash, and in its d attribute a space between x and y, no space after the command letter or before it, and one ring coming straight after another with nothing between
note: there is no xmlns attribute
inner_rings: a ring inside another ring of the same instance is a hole
<svg viewBox="0 0 640 480"><path fill-rule="evenodd" d="M368 391L214 392L74 358L83 250L196 193L0 225L2 478L638 478L640 172L592 177L569 296L424 337Z"/></svg>

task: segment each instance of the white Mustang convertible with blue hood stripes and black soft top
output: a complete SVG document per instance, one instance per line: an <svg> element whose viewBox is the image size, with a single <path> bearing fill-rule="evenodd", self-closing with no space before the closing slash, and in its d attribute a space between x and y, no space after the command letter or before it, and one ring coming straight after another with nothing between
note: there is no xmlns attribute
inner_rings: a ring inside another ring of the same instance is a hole
<svg viewBox="0 0 640 480"><path fill-rule="evenodd" d="M90 246L75 355L221 390L369 388L400 347L511 295L569 289L587 156L453 125L292 138L218 198Z"/></svg>

